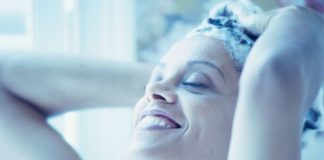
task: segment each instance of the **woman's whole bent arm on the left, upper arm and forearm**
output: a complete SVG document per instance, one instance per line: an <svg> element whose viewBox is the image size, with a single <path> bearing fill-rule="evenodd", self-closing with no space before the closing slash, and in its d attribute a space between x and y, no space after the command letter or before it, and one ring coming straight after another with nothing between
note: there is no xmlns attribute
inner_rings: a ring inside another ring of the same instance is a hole
<svg viewBox="0 0 324 160"><path fill-rule="evenodd" d="M1 55L0 159L79 160L46 122L92 106L132 105L151 67L62 55Z"/></svg>

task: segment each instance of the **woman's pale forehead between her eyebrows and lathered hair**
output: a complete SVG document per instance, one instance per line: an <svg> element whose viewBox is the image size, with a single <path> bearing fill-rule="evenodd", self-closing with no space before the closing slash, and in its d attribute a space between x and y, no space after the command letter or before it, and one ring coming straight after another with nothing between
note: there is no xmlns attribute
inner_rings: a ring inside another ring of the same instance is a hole
<svg viewBox="0 0 324 160"><path fill-rule="evenodd" d="M162 58L163 64L179 64L192 60L208 60L219 66L232 63L221 40L195 36L177 42Z"/></svg>

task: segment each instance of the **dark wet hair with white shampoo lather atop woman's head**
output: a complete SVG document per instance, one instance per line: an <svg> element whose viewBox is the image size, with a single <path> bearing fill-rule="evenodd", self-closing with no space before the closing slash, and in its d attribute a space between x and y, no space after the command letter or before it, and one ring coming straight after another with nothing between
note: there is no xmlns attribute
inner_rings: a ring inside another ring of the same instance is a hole
<svg viewBox="0 0 324 160"><path fill-rule="evenodd" d="M203 35L222 40L236 70L241 72L257 37L245 32L243 26L238 22L237 16L230 12L226 5L230 5L230 3L225 1L214 7L209 17L190 31L186 37ZM220 9L215 11L215 8L216 10Z"/></svg>

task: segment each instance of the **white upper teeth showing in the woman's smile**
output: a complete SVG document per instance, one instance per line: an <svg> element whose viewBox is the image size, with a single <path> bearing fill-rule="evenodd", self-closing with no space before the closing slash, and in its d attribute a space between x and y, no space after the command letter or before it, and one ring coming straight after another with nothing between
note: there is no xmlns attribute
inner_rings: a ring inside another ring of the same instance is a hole
<svg viewBox="0 0 324 160"><path fill-rule="evenodd" d="M169 122L165 121L163 118L156 116L146 116L139 122L137 127L140 129L150 129L154 127L165 129L173 128L172 125L168 123Z"/></svg>

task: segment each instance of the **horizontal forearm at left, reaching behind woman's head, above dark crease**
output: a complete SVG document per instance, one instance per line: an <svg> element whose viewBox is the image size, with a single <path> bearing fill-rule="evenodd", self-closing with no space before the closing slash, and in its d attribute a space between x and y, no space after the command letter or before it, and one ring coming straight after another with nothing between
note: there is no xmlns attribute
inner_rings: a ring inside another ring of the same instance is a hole
<svg viewBox="0 0 324 160"><path fill-rule="evenodd" d="M93 106L131 106L142 96L152 68L60 54L11 54L0 63L3 88L48 114Z"/></svg>

